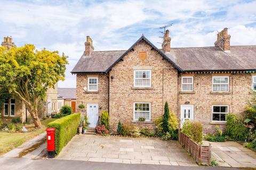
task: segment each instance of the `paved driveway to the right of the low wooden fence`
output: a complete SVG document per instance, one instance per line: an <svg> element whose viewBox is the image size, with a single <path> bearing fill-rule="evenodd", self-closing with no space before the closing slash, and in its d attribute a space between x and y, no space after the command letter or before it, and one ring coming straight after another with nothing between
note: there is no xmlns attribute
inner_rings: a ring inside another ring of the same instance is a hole
<svg viewBox="0 0 256 170"><path fill-rule="evenodd" d="M212 159L220 166L256 167L256 153L234 141L208 142L212 145Z"/></svg>

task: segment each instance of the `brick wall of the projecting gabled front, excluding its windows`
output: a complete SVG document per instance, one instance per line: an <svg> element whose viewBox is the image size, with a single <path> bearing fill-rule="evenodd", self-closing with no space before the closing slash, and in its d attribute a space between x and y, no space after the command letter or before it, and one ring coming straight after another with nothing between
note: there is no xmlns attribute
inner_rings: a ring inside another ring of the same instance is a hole
<svg viewBox="0 0 256 170"><path fill-rule="evenodd" d="M139 52L147 53L146 60L139 58ZM134 70L151 70L151 88L134 88ZM163 60L163 56L146 41L140 41L134 51L127 53L123 61L118 62L109 72L109 76L113 77L109 90L111 130L116 130L118 121L154 129L154 120L163 114L165 101L169 102L174 112L177 111L177 70L173 69L168 61ZM133 103L138 101L151 103L150 122L133 121Z"/></svg>

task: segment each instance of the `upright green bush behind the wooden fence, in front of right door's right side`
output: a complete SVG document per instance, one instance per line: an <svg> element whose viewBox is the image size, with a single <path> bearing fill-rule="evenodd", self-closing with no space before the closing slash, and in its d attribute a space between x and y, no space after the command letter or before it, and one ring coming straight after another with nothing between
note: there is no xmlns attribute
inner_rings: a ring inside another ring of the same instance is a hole
<svg viewBox="0 0 256 170"><path fill-rule="evenodd" d="M200 122L194 122L191 127L191 139L196 143L203 142L203 125Z"/></svg>

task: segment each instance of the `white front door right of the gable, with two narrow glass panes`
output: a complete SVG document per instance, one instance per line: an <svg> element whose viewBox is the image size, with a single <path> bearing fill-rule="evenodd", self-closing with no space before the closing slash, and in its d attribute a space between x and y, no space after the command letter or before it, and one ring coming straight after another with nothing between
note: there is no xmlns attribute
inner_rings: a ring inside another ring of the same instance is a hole
<svg viewBox="0 0 256 170"><path fill-rule="evenodd" d="M186 120L194 121L194 105L180 106L180 128Z"/></svg>

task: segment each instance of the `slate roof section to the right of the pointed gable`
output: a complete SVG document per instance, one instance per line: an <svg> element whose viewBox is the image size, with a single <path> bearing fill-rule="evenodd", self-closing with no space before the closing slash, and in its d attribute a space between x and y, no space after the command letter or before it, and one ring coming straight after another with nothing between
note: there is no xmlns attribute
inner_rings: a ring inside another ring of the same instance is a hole
<svg viewBox="0 0 256 170"><path fill-rule="evenodd" d="M256 69L256 46L230 46L230 53L219 47L171 48L165 55L184 71Z"/></svg>

